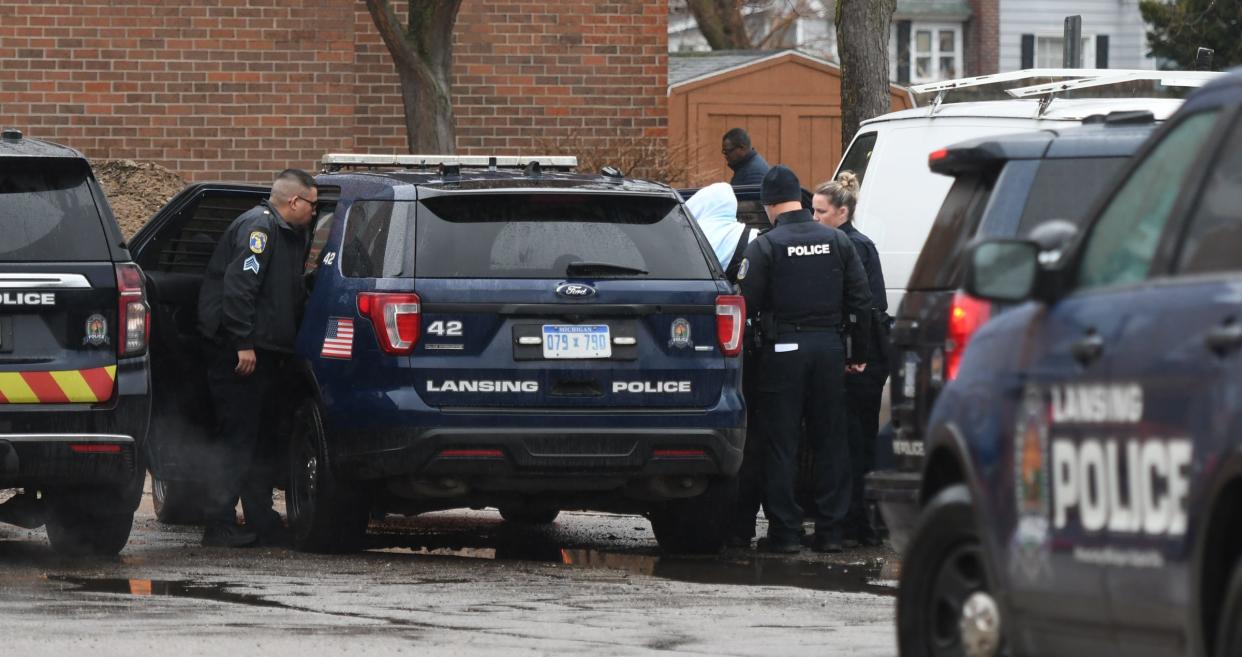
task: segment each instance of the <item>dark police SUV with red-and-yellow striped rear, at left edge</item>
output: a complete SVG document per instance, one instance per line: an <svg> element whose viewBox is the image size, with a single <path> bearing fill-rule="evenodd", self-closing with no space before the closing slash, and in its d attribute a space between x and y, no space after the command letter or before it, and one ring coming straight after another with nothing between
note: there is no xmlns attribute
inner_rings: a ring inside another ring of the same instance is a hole
<svg viewBox="0 0 1242 657"><path fill-rule="evenodd" d="M0 137L0 520L116 554L150 417L143 273L81 153Z"/></svg>

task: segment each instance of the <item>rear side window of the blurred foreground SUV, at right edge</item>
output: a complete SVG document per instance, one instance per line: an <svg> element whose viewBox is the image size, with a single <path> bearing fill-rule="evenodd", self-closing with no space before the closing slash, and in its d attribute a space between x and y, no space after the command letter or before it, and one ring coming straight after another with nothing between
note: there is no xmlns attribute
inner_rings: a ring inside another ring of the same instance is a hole
<svg viewBox="0 0 1242 657"><path fill-rule="evenodd" d="M1233 128L1221 159L1190 220L1177 270L1187 273L1242 270L1242 123Z"/></svg>

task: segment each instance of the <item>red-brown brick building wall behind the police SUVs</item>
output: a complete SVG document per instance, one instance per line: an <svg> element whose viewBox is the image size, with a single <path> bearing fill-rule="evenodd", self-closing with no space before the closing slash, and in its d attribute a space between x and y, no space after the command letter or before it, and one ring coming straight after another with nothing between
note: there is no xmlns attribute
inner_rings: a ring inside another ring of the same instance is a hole
<svg viewBox="0 0 1242 657"><path fill-rule="evenodd" d="M667 11L465 0L458 152L663 149ZM361 0L0 0L0 89L5 125L191 180L406 150L400 84Z"/></svg>

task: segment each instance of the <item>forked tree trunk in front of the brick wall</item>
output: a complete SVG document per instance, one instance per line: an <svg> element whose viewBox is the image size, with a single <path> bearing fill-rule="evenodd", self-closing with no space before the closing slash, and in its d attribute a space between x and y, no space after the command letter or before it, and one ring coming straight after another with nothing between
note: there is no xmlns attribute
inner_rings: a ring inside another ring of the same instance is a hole
<svg viewBox="0 0 1242 657"><path fill-rule="evenodd" d="M455 153L452 104L453 24L461 0L410 0L402 30L388 0L366 0L401 79L410 153Z"/></svg>

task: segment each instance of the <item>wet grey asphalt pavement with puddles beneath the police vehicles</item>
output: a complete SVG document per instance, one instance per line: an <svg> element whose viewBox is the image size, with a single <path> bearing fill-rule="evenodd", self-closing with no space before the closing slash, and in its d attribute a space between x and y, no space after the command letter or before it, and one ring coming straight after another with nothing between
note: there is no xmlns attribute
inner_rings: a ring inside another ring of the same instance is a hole
<svg viewBox="0 0 1242 657"><path fill-rule="evenodd" d="M895 655L892 554L660 555L637 517L373 523L371 549L199 545L149 497L117 559L0 525L4 655ZM886 566L886 564L888 564Z"/></svg>

